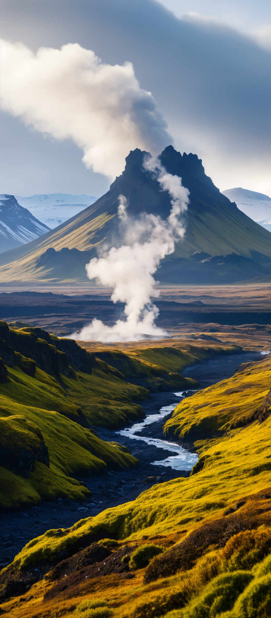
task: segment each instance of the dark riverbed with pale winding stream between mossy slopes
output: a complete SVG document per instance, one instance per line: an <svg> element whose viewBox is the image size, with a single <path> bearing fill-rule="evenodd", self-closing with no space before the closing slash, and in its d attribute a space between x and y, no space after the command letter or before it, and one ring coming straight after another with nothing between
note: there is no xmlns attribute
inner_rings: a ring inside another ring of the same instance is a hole
<svg viewBox="0 0 271 618"><path fill-rule="evenodd" d="M196 363L184 371L207 387L233 375L243 362L262 358L255 352L238 355L215 355ZM191 391L188 391L191 393ZM96 428L102 439L119 441L130 448L140 460L138 468L118 470L103 475L83 478L91 490L91 497L83 505L70 500L43 502L23 511L0 515L1 562L0 568L9 564L23 546L32 538L50 528L67 528L78 519L95 516L101 510L136 499L150 484L168 481L178 476L189 476L198 460L196 453L183 449L180 444L163 439L162 426L185 392L151 394L141 402L146 417L121 431Z"/></svg>

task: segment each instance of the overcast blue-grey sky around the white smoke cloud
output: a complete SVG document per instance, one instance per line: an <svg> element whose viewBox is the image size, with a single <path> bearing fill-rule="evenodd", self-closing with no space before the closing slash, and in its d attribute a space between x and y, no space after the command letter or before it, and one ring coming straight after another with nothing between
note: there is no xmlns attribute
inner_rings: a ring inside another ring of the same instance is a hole
<svg viewBox="0 0 271 618"><path fill-rule="evenodd" d="M175 148L198 154L220 190L271 195L271 6L235 4L0 0L0 37L33 51L79 43L102 62L132 62ZM0 114L0 132L0 193L98 196L109 187L72 141L44 137L9 112Z"/></svg>

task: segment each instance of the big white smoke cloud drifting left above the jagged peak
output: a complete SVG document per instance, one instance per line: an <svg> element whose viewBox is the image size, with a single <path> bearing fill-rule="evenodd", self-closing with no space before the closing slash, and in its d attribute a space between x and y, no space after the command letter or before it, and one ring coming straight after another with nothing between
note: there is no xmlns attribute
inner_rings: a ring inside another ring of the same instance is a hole
<svg viewBox="0 0 271 618"><path fill-rule="evenodd" d="M102 64L77 43L34 54L1 39L0 57L0 107L41 133L73 140L94 172L114 178L130 150L158 154L172 142L131 62Z"/></svg>

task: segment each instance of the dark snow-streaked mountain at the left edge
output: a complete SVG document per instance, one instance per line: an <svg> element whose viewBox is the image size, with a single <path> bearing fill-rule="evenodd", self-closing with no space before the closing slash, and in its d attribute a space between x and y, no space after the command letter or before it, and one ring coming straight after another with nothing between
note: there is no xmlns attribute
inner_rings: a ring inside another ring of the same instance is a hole
<svg viewBox="0 0 271 618"><path fill-rule="evenodd" d="M14 195L0 195L0 253L25 245L48 230L48 226L19 205Z"/></svg>

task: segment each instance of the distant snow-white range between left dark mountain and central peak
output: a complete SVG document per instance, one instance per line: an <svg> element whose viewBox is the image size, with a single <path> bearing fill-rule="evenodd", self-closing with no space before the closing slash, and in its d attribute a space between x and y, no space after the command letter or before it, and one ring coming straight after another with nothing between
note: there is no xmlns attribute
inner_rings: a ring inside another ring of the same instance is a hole
<svg viewBox="0 0 271 618"><path fill-rule="evenodd" d="M44 193L22 197L15 195L21 206L28 208L46 226L53 229L84 210L96 201L93 195L70 195L70 193Z"/></svg>

